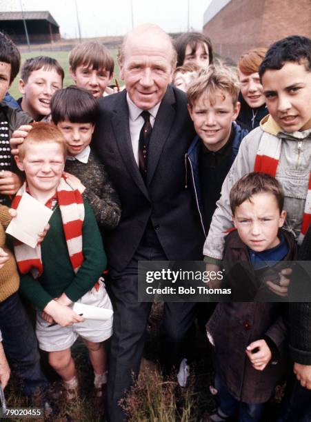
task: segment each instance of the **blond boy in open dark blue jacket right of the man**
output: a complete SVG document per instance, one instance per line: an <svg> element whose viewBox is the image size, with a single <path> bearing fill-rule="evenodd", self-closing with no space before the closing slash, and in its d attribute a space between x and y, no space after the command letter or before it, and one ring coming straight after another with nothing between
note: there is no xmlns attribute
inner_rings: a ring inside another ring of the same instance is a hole
<svg viewBox="0 0 311 422"><path fill-rule="evenodd" d="M187 159L205 234L219 200L221 185L248 133L234 120L240 110L239 81L230 68L210 66L188 88L188 110L197 136Z"/></svg>

